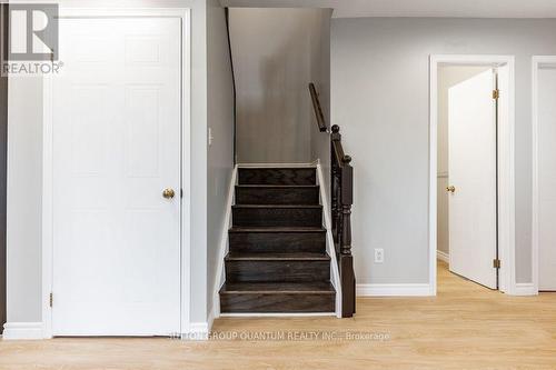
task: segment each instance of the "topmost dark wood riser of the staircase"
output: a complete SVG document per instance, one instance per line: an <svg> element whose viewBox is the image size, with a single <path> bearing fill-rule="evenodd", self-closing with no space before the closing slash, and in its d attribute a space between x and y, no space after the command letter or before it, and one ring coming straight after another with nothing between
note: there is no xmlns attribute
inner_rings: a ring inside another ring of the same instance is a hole
<svg viewBox="0 0 556 370"><path fill-rule="evenodd" d="M239 184L316 184L315 168L239 168Z"/></svg>

